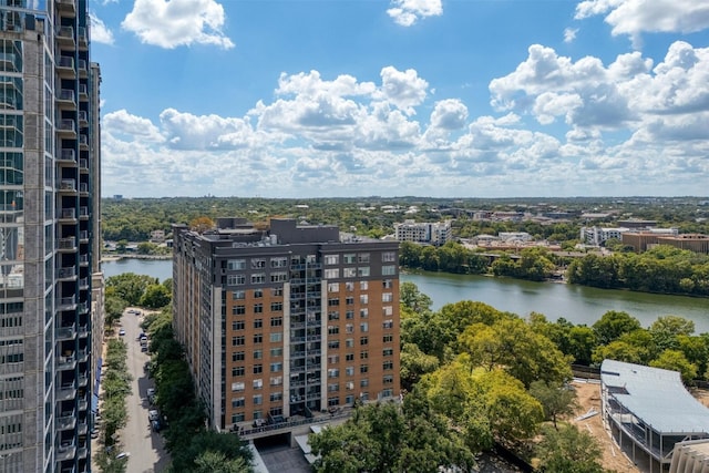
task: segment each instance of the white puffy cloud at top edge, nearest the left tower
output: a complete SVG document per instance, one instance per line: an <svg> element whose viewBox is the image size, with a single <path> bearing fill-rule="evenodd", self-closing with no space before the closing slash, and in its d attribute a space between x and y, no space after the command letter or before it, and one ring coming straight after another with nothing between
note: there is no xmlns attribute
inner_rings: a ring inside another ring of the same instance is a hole
<svg viewBox="0 0 709 473"><path fill-rule="evenodd" d="M213 44L223 49L234 43L222 29L224 8L215 0L135 0L122 27L147 44L173 49Z"/></svg>

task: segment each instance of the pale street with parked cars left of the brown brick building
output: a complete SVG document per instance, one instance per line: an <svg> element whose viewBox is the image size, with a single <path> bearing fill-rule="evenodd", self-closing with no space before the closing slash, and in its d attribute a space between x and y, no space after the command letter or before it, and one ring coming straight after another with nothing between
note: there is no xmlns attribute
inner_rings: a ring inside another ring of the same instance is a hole
<svg viewBox="0 0 709 473"><path fill-rule="evenodd" d="M148 402L145 394L147 388L154 388L153 380L147 378L144 371L145 363L150 360L147 353L141 352L141 345L135 340L142 331L141 317L123 312L121 325L125 329L125 342L127 349L127 369L133 376L131 394L126 398L129 420L121 432L121 441L124 451L130 452L127 473L160 473L168 464L168 455L165 452L165 441L156 432L153 432L147 420Z"/></svg>

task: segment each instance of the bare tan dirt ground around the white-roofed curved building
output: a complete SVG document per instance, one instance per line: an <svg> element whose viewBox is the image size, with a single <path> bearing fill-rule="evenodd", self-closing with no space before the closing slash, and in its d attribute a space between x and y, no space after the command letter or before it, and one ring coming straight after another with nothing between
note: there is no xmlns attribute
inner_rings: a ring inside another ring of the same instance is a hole
<svg viewBox="0 0 709 473"><path fill-rule="evenodd" d="M600 418L600 384L582 381L574 381L573 384L576 388L576 401L579 405L576 415L585 414L590 408L599 412L589 419L580 421L572 420L572 422L578 425L579 429L588 430L588 432L598 440L603 448L604 469L609 471L615 470L618 473L639 473L641 470L634 465L630 459L618 449L618 445L615 444L608 431L603 426ZM693 389L690 392L699 402L709 408L709 390Z"/></svg>

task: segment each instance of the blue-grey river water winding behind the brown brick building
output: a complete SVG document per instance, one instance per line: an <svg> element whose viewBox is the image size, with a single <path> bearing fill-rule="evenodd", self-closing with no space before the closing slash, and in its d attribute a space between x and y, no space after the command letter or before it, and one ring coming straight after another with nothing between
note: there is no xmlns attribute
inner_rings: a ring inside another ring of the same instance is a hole
<svg viewBox="0 0 709 473"><path fill-rule="evenodd" d="M104 261L102 268L106 277L135 273L161 281L172 278L172 259L121 259ZM564 317L576 325L592 325L608 310L623 310L643 327L672 315L693 320L697 333L709 332L709 299L443 273L402 274L400 279L414 282L433 300L435 310L445 304L477 300L523 317L534 311L552 321Z"/></svg>

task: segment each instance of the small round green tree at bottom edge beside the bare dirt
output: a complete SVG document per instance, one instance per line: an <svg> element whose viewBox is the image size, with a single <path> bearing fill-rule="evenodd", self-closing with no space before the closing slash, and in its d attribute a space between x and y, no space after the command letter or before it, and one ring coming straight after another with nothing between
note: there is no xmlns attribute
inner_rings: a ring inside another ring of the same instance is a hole
<svg viewBox="0 0 709 473"><path fill-rule="evenodd" d="M603 451L596 439L576 425L559 429L543 428L543 436L535 449L543 471L554 473L603 473Z"/></svg>

